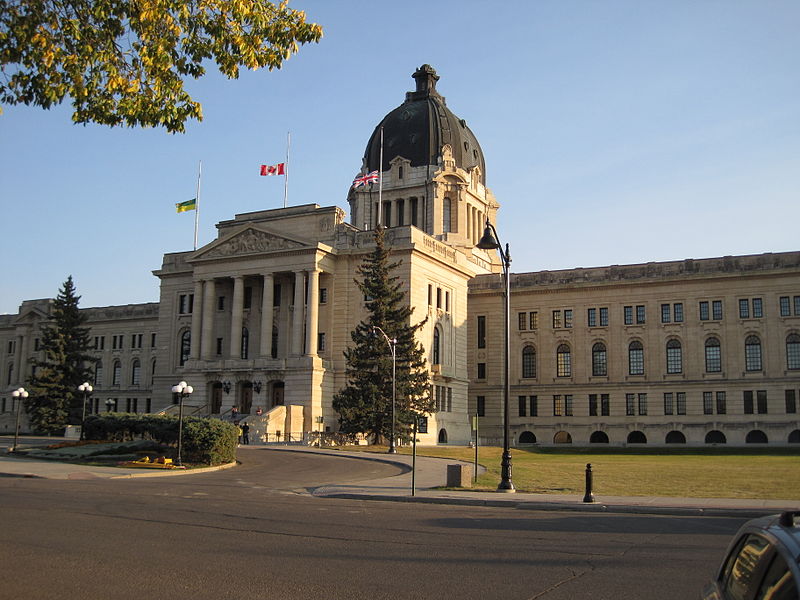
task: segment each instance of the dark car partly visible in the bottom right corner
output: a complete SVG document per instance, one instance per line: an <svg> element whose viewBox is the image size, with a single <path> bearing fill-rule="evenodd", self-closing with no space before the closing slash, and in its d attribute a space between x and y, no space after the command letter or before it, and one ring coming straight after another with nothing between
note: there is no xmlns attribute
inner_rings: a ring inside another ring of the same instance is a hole
<svg viewBox="0 0 800 600"><path fill-rule="evenodd" d="M800 511L745 523L728 546L703 600L798 600Z"/></svg>

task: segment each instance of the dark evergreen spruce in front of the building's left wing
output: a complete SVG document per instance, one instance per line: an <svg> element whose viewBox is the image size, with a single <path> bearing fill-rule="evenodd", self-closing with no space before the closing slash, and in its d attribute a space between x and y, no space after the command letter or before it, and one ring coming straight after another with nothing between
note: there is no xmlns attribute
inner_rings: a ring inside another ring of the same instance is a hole
<svg viewBox="0 0 800 600"><path fill-rule="evenodd" d="M78 310L79 300L70 275L53 301L52 322L42 327L39 348L45 357L33 361L36 370L25 403L36 431L54 433L80 422L78 386L92 380L95 359L88 354L89 329L83 327L86 315Z"/></svg>

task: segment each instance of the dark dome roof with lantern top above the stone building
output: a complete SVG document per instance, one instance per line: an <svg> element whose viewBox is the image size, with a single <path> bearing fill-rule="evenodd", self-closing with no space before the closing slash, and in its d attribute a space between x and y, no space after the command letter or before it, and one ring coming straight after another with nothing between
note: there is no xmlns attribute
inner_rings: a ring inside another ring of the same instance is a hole
<svg viewBox="0 0 800 600"><path fill-rule="evenodd" d="M367 172L378 168L383 127L382 171L396 156L411 161L412 167L437 165L444 144L453 148L456 166L462 169L481 168L481 182L486 183L483 150L466 121L455 116L436 91L439 76L430 65L422 65L413 75L417 90L406 93L406 101L386 115L372 132L364 152Z"/></svg>

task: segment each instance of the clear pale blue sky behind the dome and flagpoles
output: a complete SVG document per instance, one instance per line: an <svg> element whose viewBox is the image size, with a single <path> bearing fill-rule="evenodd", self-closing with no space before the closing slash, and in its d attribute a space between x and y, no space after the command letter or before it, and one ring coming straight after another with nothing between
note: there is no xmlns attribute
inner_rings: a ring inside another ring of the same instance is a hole
<svg viewBox="0 0 800 600"><path fill-rule="evenodd" d="M184 135L0 116L0 313L54 296L158 300L151 271L215 223L289 203L347 209L378 121L423 63L480 141L514 272L796 250L800 2L294 0L323 25L280 71L191 84Z"/></svg>

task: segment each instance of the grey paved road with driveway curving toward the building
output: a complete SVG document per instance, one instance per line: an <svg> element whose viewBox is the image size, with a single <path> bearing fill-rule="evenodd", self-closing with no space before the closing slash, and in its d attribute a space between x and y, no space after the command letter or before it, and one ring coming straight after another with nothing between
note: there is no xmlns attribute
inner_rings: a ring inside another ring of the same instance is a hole
<svg viewBox="0 0 800 600"><path fill-rule="evenodd" d="M0 598L696 598L740 519L314 497L399 472L241 449L235 469L0 478Z"/></svg>

